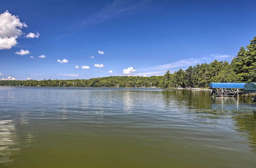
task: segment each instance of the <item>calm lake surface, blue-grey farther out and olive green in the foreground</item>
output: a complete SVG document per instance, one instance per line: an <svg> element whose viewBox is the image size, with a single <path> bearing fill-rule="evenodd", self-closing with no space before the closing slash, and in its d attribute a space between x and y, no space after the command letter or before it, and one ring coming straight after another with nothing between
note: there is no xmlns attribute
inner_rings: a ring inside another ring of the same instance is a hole
<svg viewBox="0 0 256 168"><path fill-rule="evenodd" d="M256 104L208 95L0 87L0 167L255 167Z"/></svg>

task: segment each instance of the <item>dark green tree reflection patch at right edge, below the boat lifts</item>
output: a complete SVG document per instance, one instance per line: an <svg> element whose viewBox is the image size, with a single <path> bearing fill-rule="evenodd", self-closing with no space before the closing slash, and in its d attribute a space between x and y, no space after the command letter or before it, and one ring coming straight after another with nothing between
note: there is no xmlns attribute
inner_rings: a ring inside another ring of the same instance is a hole
<svg viewBox="0 0 256 168"><path fill-rule="evenodd" d="M256 110L252 114L247 113L232 118L236 121L240 135L249 140L249 147L256 154Z"/></svg>

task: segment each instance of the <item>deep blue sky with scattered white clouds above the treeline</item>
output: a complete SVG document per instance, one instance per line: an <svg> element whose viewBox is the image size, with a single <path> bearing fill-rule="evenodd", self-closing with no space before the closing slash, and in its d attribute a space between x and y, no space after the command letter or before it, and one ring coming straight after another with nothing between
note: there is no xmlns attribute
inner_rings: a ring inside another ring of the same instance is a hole
<svg viewBox="0 0 256 168"><path fill-rule="evenodd" d="M256 36L255 6L256 1L0 1L0 79L152 76L230 61Z"/></svg>

